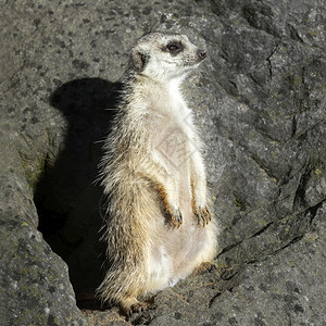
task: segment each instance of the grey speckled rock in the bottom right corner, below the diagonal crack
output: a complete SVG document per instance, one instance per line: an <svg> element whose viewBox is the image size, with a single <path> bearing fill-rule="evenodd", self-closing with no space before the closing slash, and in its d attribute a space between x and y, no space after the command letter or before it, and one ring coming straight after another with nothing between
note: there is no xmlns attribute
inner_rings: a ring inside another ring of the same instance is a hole
<svg viewBox="0 0 326 326"><path fill-rule="evenodd" d="M210 310L221 325L325 325L325 203L300 241L250 264ZM323 324L324 323L324 324Z"/></svg>

